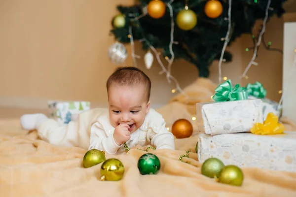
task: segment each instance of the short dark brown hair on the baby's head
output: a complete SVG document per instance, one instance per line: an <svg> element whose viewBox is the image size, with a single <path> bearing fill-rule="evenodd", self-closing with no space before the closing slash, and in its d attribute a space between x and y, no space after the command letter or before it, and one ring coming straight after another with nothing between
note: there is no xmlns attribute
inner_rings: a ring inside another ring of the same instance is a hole
<svg viewBox="0 0 296 197"><path fill-rule="evenodd" d="M144 84L147 88L147 101L150 99L150 78L139 68L133 66L117 67L107 80L107 92L109 91L111 83L131 87Z"/></svg>

